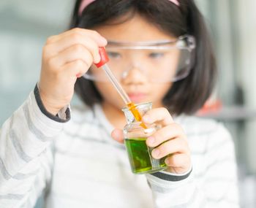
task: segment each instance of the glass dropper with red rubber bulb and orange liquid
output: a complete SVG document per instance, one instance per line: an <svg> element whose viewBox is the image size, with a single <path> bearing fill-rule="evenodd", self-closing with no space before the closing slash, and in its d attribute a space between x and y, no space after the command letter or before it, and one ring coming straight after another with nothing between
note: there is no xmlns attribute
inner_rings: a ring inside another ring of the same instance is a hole
<svg viewBox="0 0 256 208"><path fill-rule="evenodd" d="M132 112L132 115L135 117L135 119L137 121L141 121L142 117L140 115L140 112L138 112L138 109L136 109L135 104L129 99L129 96L124 91L124 89L121 87L120 83L118 82L118 80L116 80L116 77L111 72L110 68L108 67L107 63L109 61L109 58L108 58L108 54L106 53L105 47L99 47L99 55L100 55L101 60L99 61L99 63L94 63L94 64L97 66L97 68L101 67L104 70L104 72L107 74L108 78L112 82L113 86L116 88L119 95L123 99L124 103L127 105L129 110ZM142 126L143 128L147 128L144 123L140 123L140 126Z"/></svg>

